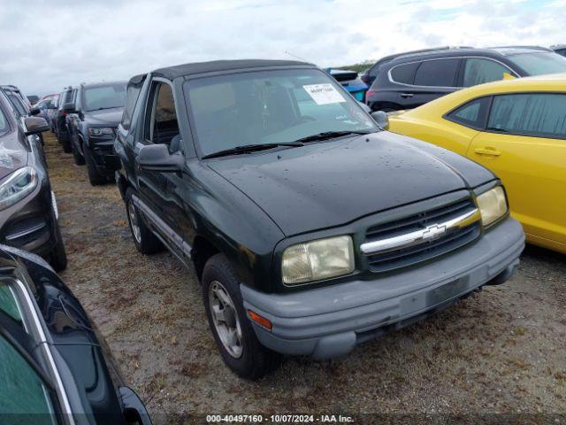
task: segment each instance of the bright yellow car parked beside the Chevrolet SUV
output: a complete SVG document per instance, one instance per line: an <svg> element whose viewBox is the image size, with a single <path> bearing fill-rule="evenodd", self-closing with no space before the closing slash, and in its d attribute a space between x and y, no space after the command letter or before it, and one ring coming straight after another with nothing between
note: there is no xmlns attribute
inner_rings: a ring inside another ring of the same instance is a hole
<svg viewBox="0 0 566 425"><path fill-rule="evenodd" d="M386 126L491 169L527 241L566 253L566 73L462 89Z"/></svg>

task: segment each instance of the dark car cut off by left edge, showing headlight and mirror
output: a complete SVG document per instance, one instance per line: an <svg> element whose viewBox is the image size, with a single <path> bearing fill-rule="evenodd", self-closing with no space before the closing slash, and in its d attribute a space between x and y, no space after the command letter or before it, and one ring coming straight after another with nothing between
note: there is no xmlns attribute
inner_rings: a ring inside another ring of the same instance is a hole
<svg viewBox="0 0 566 425"><path fill-rule="evenodd" d="M23 117L0 90L0 243L33 251L58 271L66 267L57 204L41 140L40 117Z"/></svg>

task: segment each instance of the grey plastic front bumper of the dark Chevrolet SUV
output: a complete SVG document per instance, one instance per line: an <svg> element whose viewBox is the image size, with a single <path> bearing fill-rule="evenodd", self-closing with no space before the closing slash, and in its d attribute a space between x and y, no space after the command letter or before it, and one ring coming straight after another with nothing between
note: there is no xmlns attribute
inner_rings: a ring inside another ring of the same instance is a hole
<svg viewBox="0 0 566 425"><path fill-rule="evenodd" d="M460 250L371 282L282 295L241 284L241 295L247 310L272 321L271 332L252 322L264 346L275 352L329 359L437 312L490 281L504 282L518 265L523 249L523 228L509 218Z"/></svg>

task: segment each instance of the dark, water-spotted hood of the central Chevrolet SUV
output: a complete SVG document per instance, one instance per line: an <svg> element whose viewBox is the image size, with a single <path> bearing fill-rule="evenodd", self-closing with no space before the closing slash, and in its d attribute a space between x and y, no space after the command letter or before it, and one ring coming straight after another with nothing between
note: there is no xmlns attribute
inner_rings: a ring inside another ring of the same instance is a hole
<svg viewBox="0 0 566 425"><path fill-rule="evenodd" d="M340 226L493 178L459 155L431 153L386 131L218 158L209 166L256 202L286 236ZM467 168L473 182L464 177Z"/></svg>

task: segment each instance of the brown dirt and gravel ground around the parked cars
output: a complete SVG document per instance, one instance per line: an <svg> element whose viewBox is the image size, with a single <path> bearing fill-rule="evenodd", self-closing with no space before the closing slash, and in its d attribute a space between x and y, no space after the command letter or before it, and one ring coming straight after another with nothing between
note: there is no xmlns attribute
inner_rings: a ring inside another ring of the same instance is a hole
<svg viewBox="0 0 566 425"><path fill-rule="evenodd" d="M91 187L86 169L74 166L53 137L46 150L69 256L63 278L156 418L566 413L565 256L528 248L501 287L344 359L288 358L273 375L249 383L218 356L195 274L167 252L135 251L118 189Z"/></svg>

